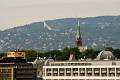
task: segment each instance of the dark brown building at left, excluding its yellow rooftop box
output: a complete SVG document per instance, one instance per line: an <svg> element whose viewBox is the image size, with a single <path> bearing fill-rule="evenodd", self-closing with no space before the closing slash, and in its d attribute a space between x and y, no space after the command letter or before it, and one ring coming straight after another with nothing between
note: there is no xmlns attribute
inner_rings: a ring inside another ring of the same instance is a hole
<svg viewBox="0 0 120 80"><path fill-rule="evenodd" d="M0 80L36 80L36 72L30 63L0 63Z"/></svg>

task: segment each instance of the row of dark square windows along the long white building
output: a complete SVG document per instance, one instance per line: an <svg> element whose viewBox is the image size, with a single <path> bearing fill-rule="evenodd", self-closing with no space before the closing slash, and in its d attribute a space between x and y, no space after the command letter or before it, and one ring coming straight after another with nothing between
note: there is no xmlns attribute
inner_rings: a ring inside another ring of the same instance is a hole
<svg viewBox="0 0 120 80"><path fill-rule="evenodd" d="M120 68L47 68L46 76L120 76Z"/></svg>

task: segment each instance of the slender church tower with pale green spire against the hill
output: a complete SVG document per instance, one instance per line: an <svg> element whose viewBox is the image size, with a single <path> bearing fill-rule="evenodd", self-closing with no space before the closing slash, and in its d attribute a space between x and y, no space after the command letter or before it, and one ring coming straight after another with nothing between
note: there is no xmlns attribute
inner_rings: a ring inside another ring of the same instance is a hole
<svg viewBox="0 0 120 80"><path fill-rule="evenodd" d="M82 38L81 38L81 34L80 34L80 24L79 24L79 21L78 21L77 31L76 31L75 46L77 48L82 47Z"/></svg>

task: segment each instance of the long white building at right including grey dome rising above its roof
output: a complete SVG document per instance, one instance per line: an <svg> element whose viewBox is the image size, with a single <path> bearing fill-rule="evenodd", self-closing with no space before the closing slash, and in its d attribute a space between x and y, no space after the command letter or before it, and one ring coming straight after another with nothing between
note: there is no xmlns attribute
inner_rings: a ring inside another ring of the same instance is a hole
<svg viewBox="0 0 120 80"><path fill-rule="evenodd" d="M120 60L101 51L95 60L50 61L43 66L44 80L120 80Z"/></svg>

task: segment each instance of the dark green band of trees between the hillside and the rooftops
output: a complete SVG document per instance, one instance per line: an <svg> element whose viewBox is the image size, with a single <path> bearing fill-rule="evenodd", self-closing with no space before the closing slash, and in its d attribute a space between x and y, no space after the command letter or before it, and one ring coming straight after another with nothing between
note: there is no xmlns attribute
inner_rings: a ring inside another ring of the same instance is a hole
<svg viewBox="0 0 120 80"><path fill-rule="evenodd" d="M113 48L106 48L107 50L111 51L113 55L120 59L120 49L113 49ZM68 60L69 55L72 53L75 55L75 58L81 59L81 58L96 58L98 53L101 50L96 50L96 49L87 49L86 51L80 53L77 48L64 48L63 50L52 50L48 52L37 52L35 50L26 50L26 59L28 61L34 61L36 57L52 57L54 60ZM0 57L5 56L5 53L1 53Z"/></svg>

